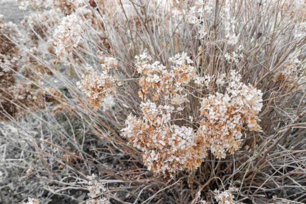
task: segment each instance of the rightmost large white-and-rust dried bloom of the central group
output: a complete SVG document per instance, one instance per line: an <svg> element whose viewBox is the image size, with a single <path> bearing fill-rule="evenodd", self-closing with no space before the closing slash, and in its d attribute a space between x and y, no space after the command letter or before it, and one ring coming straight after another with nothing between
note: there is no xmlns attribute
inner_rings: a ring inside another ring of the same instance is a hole
<svg viewBox="0 0 306 204"><path fill-rule="evenodd" d="M261 91L240 82L241 76L235 71L230 74L226 93L209 94L201 102L204 119L197 134L218 158L225 158L226 151L233 153L239 148L244 123L250 130L261 131L257 124Z"/></svg>

